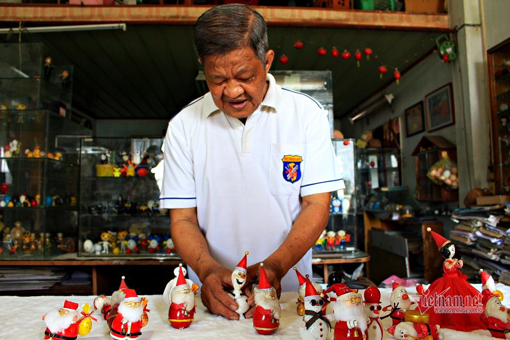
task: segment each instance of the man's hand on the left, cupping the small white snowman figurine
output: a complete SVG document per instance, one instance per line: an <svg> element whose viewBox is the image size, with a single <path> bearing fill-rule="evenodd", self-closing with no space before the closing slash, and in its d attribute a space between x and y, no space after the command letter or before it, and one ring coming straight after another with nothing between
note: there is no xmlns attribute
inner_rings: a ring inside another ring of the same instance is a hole
<svg viewBox="0 0 510 340"><path fill-rule="evenodd" d="M232 271L218 266L212 268L200 278L202 282L200 298L204 306L211 313L222 315L230 320L239 320L239 314L235 311L238 306L232 296L225 292L232 290Z"/></svg>

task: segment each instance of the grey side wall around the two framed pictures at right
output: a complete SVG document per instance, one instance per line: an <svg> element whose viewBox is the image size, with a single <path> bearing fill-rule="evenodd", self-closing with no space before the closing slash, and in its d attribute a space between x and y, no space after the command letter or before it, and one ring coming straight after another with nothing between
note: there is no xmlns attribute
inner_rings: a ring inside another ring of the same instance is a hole
<svg viewBox="0 0 510 340"><path fill-rule="evenodd" d="M392 83L384 92L376 95L375 98L384 93L393 93L395 99L388 107L355 122L349 123L347 118L340 122L341 131L347 138L359 138L363 131L373 130L388 122L388 119L401 117L402 138L402 185L409 187L410 193L414 196L416 188L415 159L411 156L416 144L424 134L441 135L456 144L455 126L449 126L440 130L416 134L409 138L405 137L404 110L419 101L423 101L426 94L437 88L452 82L453 64L443 63L437 54L431 54L417 66L402 75L400 85ZM370 103L370 101L369 101ZM461 114L461 113L456 113ZM426 130L426 129L425 129ZM462 176L462 174L461 174Z"/></svg>

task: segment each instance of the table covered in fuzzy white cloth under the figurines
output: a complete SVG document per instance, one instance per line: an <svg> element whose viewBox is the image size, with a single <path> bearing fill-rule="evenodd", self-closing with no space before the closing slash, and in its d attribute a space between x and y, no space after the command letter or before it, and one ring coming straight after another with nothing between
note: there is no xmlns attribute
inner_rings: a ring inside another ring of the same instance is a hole
<svg viewBox="0 0 510 340"><path fill-rule="evenodd" d="M480 290L480 285L473 285ZM135 287L134 287L135 288ZM408 288L410 294L413 288ZM504 305L510 305L510 287L497 285L505 299ZM382 306L389 304L391 288L380 288ZM360 290L363 295L363 290ZM416 292L414 292L416 293ZM253 330L251 319L230 321L218 315L213 315L197 299L197 312L195 321L187 329L174 329L167 322L168 306L163 302L161 295L148 295L147 308L150 309L149 323L142 328L142 335L139 340L168 340L171 338L179 339L299 339L300 317L296 314L297 293L284 292L280 299L282 306L281 326L273 335L260 335ZM2 297L0 304L0 326L2 335L0 338L23 338L23 339L42 339L45 330L44 322L41 320L43 314L52 308L61 307L64 300L77 302L80 305L89 303L92 305L94 296L39 296L39 297ZM81 310L81 307L80 307ZM101 315L93 314L96 317ZM390 318L383 320L383 325L388 327L391 323ZM449 329L441 329L444 340L490 340L493 339L487 330L479 330L476 333L457 332ZM109 329L106 321L99 319L97 323L93 322L92 330L85 336L78 336L78 339L110 339ZM330 333L328 338L333 338ZM393 339L387 333L384 339Z"/></svg>

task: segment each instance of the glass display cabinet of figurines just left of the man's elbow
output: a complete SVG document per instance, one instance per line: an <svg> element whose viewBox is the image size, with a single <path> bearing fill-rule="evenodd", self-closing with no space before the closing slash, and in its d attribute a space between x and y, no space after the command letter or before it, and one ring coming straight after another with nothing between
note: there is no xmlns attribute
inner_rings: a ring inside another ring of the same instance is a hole
<svg viewBox="0 0 510 340"><path fill-rule="evenodd" d="M171 256L159 208L163 137L83 138L79 256Z"/></svg>

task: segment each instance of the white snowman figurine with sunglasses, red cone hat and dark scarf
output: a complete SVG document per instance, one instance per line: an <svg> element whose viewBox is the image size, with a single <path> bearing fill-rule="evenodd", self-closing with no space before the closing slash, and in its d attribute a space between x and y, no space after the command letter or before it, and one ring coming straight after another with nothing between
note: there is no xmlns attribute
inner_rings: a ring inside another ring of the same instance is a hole
<svg viewBox="0 0 510 340"><path fill-rule="evenodd" d="M307 278L305 279L304 293L304 316L299 326L301 339L325 339L331 329L330 319L335 315L324 315L324 300L321 298L314 285Z"/></svg>

